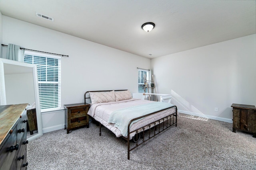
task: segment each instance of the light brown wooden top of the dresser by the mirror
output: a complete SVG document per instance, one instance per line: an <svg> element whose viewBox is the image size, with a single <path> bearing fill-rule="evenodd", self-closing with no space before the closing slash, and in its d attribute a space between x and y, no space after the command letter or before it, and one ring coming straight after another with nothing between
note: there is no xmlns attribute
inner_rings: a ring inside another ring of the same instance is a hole
<svg viewBox="0 0 256 170"><path fill-rule="evenodd" d="M0 145L28 104L0 106Z"/></svg>

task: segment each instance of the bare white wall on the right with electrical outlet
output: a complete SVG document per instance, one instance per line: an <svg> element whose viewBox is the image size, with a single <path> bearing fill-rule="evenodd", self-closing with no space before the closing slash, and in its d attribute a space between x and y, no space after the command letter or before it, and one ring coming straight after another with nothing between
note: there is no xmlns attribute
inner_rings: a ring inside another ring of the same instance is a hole
<svg viewBox="0 0 256 170"><path fill-rule="evenodd" d="M256 105L256 34L158 57L151 67L158 93L172 94L180 112L232 122L232 103Z"/></svg>

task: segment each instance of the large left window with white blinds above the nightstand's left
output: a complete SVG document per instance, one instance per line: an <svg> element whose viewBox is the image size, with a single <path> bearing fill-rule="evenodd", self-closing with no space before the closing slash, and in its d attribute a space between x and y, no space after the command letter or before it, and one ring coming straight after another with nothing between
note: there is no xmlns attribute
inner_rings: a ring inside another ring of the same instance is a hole
<svg viewBox="0 0 256 170"><path fill-rule="evenodd" d="M25 51L24 63L37 65L41 112L60 109L60 57Z"/></svg>

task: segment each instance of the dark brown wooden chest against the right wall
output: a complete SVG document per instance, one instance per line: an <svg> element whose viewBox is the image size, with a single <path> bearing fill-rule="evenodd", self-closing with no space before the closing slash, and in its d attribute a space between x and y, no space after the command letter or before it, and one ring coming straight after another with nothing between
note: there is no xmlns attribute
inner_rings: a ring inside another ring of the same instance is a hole
<svg viewBox="0 0 256 170"><path fill-rule="evenodd" d="M244 104L232 104L233 132L237 130L252 133L256 137L256 107Z"/></svg>

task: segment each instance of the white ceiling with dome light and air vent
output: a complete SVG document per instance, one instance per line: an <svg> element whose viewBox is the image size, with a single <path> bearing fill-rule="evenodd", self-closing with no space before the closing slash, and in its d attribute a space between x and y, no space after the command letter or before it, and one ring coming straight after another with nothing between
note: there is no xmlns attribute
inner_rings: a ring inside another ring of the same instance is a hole
<svg viewBox="0 0 256 170"><path fill-rule="evenodd" d="M0 0L0 12L148 58L256 33L255 0Z"/></svg>

